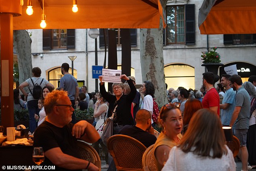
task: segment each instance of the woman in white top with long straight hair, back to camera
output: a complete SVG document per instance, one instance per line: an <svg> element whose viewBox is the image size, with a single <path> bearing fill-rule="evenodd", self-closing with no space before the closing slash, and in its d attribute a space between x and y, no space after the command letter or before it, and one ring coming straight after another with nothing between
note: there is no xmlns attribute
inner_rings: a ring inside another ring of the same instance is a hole
<svg viewBox="0 0 256 171"><path fill-rule="evenodd" d="M209 109L200 109L162 171L235 171L235 161L226 145L219 117Z"/></svg>

